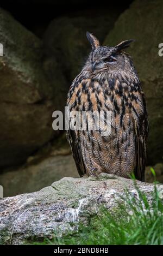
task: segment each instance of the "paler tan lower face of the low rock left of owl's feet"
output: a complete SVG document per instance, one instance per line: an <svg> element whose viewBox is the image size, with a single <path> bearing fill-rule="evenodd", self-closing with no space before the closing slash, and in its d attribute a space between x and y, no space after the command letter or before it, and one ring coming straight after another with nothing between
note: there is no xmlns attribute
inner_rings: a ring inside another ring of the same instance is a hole
<svg viewBox="0 0 163 256"><path fill-rule="evenodd" d="M48 156L37 163L26 164L16 170L5 170L0 174L0 181L4 197L11 197L34 192L65 176L79 177L71 154Z"/></svg>

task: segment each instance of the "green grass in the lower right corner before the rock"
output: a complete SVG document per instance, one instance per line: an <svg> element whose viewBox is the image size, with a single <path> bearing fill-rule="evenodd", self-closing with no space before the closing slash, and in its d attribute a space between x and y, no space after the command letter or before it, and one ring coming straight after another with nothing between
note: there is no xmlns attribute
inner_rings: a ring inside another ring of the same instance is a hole
<svg viewBox="0 0 163 256"><path fill-rule="evenodd" d="M80 225L74 235L45 239L45 245L163 245L163 205L154 186L152 200L140 192L136 199L126 190L114 211L100 209L101 214L91 218L89 227Z"/></svg>

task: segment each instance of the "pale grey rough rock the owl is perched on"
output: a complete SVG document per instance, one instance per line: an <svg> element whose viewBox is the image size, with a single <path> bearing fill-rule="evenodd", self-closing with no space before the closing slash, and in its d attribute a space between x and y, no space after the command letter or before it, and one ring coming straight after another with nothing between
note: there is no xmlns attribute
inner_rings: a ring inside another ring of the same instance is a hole
<svg viewBox="0 0 163 256"><path fill-rule="evenodd" d="M137 185L150 200L153 184ZM126 188L137 197L132 180L101 174L98 179L62 178L39 192L0 199L0 243L21 245L33 237L36 241L52 239L54 233L74 233L80 222L89 223L100 206L109 211L115 207Z"/></svg>

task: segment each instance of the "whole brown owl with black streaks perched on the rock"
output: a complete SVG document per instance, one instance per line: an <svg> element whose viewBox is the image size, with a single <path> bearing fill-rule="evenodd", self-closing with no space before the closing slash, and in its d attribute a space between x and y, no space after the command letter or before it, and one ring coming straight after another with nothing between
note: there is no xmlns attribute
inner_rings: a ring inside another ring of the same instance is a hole
<svg viewBox="0 0 163 256"><path fill-rule="evenodd" d="M80 176L101 172L137 180L145 179L148 117L145 96L130 56L124 52L133 40L100 46L86 33L92 51L82 71L72 82L67 97L69 114L78 112L110 113L110 133L101 128L67 130L72 155ZM70 120L70 119L69 119ZM70 120L71 122L71 120ZM92 116L92 122L95 118ZM75 126L75 123L74 123ZM105 126L104 126L105 127Z"/></svg>

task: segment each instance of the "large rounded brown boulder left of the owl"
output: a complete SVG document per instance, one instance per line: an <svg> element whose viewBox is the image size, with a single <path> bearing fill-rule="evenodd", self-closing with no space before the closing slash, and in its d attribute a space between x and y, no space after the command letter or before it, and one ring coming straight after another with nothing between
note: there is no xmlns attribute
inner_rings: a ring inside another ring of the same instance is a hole
<svg viewBox="0 0 163 256"><path fill-rule="evenodd" d="M4 49L4 56L0 57L0 167L3 168L23 162L56 134L52 129L52 112L65 104L62 90L65 84L61 72L54 68L55 61L49 63L43 58L40 39L2 9L0 19L0 43Z"/></svg>

